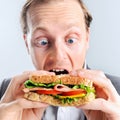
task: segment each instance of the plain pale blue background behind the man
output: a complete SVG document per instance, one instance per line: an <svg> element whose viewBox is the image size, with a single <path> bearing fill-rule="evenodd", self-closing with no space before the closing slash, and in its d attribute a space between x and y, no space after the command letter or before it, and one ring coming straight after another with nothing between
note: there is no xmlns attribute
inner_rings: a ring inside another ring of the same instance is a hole
<svg viewBox="0 0 120 120"><path fill-rule="evenodd" d="M0 79L33 70L19 23L25 0L0 2ZM87 63L120 76L120 0L84 0L93 15Z"/></svg>

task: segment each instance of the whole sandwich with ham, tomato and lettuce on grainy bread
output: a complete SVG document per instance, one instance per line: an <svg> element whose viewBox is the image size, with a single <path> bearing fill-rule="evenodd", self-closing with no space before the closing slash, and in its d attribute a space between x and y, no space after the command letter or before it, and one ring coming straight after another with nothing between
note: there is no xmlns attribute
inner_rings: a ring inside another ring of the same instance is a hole
<svg viewBox="0 0 120 120"><path fill-rule="evenodd" d="M53 106L79 106L95 99L92 81L69 74L32 74L23 91L26 99Z"/></svg>

